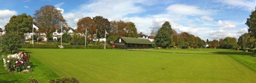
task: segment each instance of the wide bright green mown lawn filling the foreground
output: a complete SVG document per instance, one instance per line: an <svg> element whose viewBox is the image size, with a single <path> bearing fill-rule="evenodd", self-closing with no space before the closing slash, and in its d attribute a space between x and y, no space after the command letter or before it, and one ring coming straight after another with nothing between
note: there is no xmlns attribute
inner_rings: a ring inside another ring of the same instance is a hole
<svg viewBox="0 0 256 83"><path fill-rule="evenodd" d="M20 79L23 74L5 73L0 62L0 82L26 82L30 76L39 82L57 77L75 77L82 83L256 82L254 54L231 49L22 50L37 65L34 71Z"/></svg>

